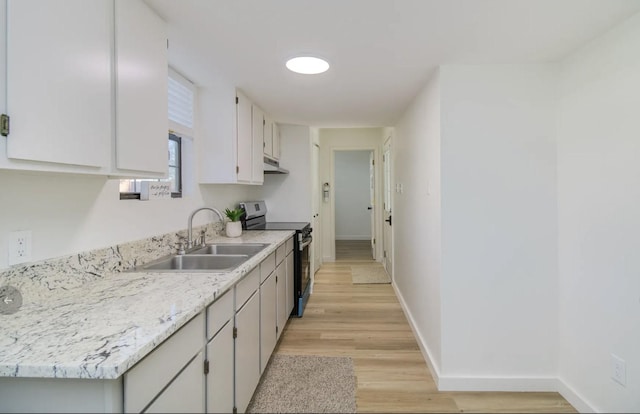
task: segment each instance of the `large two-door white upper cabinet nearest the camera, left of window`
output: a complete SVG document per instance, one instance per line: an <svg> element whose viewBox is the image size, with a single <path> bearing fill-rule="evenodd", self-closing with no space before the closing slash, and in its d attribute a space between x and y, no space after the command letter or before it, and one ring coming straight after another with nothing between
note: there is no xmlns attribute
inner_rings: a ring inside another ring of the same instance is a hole
<svg viewBox="0 0 640 414"><path fill-rule="evenodd" d="M164 22L142 0L6 5L0 168L164 176Z"/></svg>

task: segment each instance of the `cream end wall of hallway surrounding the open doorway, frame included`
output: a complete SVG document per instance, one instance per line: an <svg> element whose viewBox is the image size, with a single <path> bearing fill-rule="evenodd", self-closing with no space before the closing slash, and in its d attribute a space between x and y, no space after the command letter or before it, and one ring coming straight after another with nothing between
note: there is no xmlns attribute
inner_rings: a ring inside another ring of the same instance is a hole
<svg viewBox="0 0 640 414"><path fill-rule="evenodd" d="M320 136L320 182L331 185L331 198L322 201L322 254L325 261L334 261L335 250L335 212L333 201L335 194L333 155L336 150L373 150L376 163L376 201L380 208L375 209L375 234L381 234L382 222L382 129L381 128L321 128ZM376 259L382 257L382 243L376 247Z"/></svg>

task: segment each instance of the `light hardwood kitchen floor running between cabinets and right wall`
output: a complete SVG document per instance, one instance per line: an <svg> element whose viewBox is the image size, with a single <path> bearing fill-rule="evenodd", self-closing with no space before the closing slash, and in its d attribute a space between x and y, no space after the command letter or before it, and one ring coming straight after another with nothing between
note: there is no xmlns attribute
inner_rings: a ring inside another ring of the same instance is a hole
<svg viewBox="0 0 640 414"><path fill-rule="evenodd" d="M575 412L551 392L438 392L391 285L351 283L362 262L322 265L276 353L352 357L358 412Z"/></svg>

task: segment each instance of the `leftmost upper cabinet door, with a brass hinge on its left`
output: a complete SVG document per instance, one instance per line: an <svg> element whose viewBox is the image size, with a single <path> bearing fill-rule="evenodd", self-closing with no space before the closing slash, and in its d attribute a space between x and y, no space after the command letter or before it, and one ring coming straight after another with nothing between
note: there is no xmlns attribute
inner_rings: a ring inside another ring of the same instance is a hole
<svg viewBox="0 0 640 414"><path fill-rule="evenodd" d="M109 167L110 4L7 1L8 158Z"/></svg>

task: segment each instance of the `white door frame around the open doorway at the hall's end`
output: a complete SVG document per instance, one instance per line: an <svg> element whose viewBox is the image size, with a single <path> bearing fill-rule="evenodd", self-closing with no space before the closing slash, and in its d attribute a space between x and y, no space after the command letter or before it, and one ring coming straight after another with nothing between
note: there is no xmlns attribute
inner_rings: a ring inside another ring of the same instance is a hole
<svg viewBox="0 0 640 414"><path fill-rule="evenodd" d="M376 248L375 248L375 257L373 260L379 262L382 260L382 244L380 241L382 240L380 236L380 232L382 230L382 210L378 208L378 206L382 205L382 190L380 188L380 176L381 176L381 164L382 164L382 156L380 148L377 146L362 146L362 147L331 147L329 149L331 152L331 165L329 170L329 217L328 217L328 226L325 227L326 230L329 231L329 252L324 253L324 261L335 262L336 261L336 200L335 200L335 182L336 182L336 168L335 168L335 158L336 152L338 151L372 151L373 159L375 162L374 168L374 180L375 180L375 188L374 188L374 199L376 204L373 205L373 215L375 226L371 229L372 236L376 239Z"/></svg>

